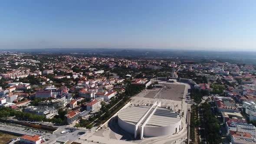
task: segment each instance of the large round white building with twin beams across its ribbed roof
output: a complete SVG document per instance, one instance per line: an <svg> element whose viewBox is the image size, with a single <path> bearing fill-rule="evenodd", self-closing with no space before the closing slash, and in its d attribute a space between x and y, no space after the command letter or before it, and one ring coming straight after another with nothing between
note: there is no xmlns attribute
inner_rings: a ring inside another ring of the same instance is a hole
<svg viewBox="0 0 256 144"><path fill-rule="evenodd" d="M141 105L128 107L118 113L118 125L134 134L143 137L155 137L174 134L181 129L181 116L167 108L161 107L161 101L151 106Z"/></svg>

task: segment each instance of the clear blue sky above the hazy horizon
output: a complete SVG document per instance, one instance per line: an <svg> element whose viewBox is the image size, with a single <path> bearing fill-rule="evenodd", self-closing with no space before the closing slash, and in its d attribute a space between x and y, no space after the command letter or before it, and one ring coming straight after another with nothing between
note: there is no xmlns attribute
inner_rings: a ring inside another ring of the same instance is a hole
<svg viewBox="0 0 256 144"><path fill-rule="evenodd" d="M256 50L256 1L0 1L0 49L102 47Z"/></svg>

